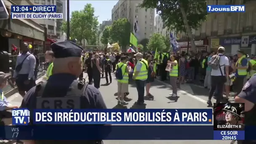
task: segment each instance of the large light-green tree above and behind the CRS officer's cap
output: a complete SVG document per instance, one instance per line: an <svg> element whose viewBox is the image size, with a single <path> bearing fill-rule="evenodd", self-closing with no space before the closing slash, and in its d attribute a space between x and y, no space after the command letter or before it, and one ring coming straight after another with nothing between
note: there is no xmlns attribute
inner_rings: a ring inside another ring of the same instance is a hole
<svg viewBox="0 0 256 144"><path fill-rule="evenodd" d="M70 19L70 37L76 38L79 43L83 39L88 41L88 44L95 42L95 35L99 25L98 17L94 16L94 8L91 4L86 4L83 10L72 11ZM67 33L67 22L64 21L61 30Z"/></svg>

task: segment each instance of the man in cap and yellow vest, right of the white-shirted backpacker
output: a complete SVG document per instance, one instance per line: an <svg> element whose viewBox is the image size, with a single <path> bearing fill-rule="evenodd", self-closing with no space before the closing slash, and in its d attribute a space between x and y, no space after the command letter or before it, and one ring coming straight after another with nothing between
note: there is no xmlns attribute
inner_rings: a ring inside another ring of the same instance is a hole
<svg viewBox="0 0 256 144"><path fill-rule="evenodd" d="M248 69L248 60L246 59L246 55L243 51L237 51L238 60L235 64L235 81L234 81L234 89L239 94L242 91L243 85L246 82L246 75Z"/></svg>

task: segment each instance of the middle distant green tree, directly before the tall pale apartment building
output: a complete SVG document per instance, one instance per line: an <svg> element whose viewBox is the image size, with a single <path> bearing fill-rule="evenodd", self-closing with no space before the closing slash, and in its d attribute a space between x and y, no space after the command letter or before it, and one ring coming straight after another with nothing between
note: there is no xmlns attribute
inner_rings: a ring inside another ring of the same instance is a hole
<svg viewBox="0 0 256 144"><path fill-rule="evenodd" d="M128 19L118 19L112 24L109 31L110 37L115 42L118 42L122 48L126 48L130 44L131 23Z"/></svg>

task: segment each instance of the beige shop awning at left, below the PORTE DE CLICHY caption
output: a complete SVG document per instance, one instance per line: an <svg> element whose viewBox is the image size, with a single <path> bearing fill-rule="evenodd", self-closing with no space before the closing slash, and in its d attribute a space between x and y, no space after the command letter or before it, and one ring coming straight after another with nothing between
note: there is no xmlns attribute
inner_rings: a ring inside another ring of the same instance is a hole
<svg viewBox="0 0 256 144"><path fill-rule="evenodd" d="M17 0L18 1L18 0ZM24 2L27 0L24 0ZM11 11L11 5L16 5L12 1L3 1L8 11ZM15 2L15 1L14 1ZM29 2L27 2L29 5ZM33 39L45 41L45 29L32 19L7 19L0 20L0 28Z"/></svg>

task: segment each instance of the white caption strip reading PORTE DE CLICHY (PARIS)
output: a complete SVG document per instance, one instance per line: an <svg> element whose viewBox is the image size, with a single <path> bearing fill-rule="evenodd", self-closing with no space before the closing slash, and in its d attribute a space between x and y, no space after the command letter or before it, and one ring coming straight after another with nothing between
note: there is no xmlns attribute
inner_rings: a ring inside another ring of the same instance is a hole
<svg viewBox="0 0 256 144"><path fill-rule="evenodd" d="M63 13L11 13L11 19L63 19Z"/></svg>

